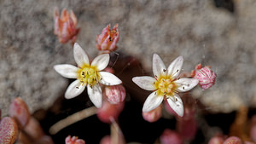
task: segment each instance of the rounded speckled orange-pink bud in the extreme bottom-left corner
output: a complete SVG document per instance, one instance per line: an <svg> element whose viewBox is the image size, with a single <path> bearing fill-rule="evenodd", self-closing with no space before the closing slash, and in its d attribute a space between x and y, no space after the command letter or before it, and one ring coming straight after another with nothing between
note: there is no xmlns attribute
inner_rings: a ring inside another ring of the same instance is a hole
<svg viewBox="0 0 256 144"><path fill-rule="evenodd" d="M18 137L18 126L15 119L5 117L0 122L0 143L13 144Z"/></svg>

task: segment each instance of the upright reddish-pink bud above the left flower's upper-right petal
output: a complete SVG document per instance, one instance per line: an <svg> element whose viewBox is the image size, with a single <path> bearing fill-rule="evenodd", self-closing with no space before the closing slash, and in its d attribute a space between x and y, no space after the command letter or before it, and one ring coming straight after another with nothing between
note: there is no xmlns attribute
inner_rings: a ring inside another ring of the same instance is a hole
<svg viewBox="0 0 256 144"><path fill-rule="evenodd" d="M110 30L110 24L102 30L102 34L96 36L96 48L102 52L109 53L117 49L116 43L119 41L118 24Z"/></svg>

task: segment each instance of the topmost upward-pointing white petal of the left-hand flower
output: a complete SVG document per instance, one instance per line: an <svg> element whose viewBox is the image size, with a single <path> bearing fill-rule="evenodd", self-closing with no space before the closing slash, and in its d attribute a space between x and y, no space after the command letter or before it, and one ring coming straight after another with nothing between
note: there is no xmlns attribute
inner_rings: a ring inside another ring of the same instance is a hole
<svg viewBox="0 0 256 144"><path fill-rule="evenodd" d="M85 53L84 49L80 47L79 43L74 43L73 45L73 57L79 67L82 67L85 64L90 64L87 54Z"/></svg>

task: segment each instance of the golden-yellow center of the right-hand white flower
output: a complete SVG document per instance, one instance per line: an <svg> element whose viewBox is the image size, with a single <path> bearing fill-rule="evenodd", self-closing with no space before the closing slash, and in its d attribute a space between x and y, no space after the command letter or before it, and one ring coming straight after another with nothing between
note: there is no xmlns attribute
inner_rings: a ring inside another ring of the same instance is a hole
<svg viewBox="0 0 256 144"><path fill-rule="evenodd" d="M154 87L157 89L156 92L158 95L172 96L175 93L177 85L173 83L171 76L160 76L159 78L156 78Z"/></svg>

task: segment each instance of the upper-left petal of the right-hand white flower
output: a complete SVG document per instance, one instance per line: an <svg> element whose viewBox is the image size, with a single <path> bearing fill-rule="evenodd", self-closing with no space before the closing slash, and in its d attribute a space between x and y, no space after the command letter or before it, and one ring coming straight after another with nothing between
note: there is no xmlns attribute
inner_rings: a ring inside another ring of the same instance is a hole
<svg viewBox="0 0 256 144"><path fill-rule="evenodd" d="M155 76L160 76L160 74L162 72L166 71L166 66L163 62L163 60L161 60L160 56L157 54L153 55L153 73L154 73L154 77Z"/></svg>

